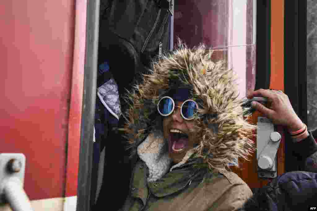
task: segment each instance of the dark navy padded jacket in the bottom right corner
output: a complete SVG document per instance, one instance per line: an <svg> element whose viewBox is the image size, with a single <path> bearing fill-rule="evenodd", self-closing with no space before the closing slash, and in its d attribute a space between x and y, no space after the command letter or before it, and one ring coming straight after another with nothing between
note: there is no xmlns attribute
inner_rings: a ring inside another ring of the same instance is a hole
<svg viewBox="0 0 317 211"><path fill-rule="evenodd" d="M317 174L292 171L276 177L244 203L239 211L310 210L317 202Z"/></svg>

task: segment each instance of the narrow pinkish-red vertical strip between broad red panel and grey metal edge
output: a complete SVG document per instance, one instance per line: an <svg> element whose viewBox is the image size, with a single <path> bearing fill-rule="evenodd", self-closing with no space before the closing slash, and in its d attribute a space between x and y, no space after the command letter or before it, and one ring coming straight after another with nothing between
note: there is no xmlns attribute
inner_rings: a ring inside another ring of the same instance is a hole
<svg viewBox="0 0 317 211"><path fill-rule="evenodd" d="M68 157L65 196L77 195L86 47L86 16L87 0L76 1L74 60L68 122Z"/></svg>

